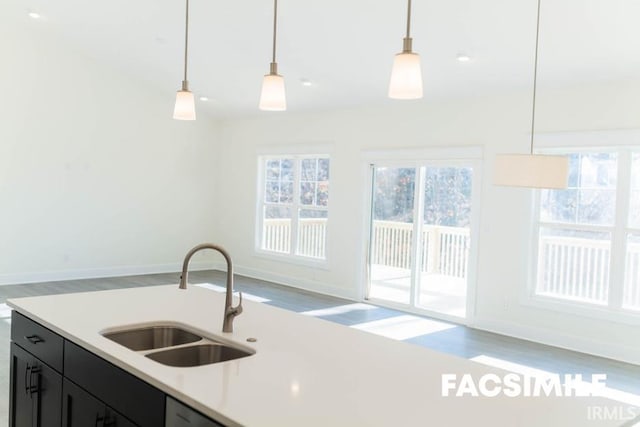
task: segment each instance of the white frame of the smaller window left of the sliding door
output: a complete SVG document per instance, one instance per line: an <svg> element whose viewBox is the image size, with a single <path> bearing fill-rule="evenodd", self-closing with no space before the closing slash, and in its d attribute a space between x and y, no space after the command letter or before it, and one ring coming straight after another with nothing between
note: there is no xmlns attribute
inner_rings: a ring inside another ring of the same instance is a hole
<svg viewBox="0 0 640 427"><path fill-rule="evenodd" d="M290 204L268 203L265 200L266 191L266 164L272 159L292 159L294 161L293 172L293 197ZM313 268L328 269L329 264L329 210L330 200L327 200L326 207L319 207L316 205L304 205L300 201L300 185L302 180L301 164L304 159L328 159L329 160L329 187L331 186L331 154L328 150L314 150L314 151L300 151L300 150L277 150L258 153L258 179L257 192L256 192L256 228L254 239L254 252L257 256L273 261L289 262L293 264L299 264L303 266L309 266ZM331 193L330 193L331 194ZM329 196L329 199L331 196ZM262 237L264 229L264 209L267 206L286 206L291 209L291 237L290 237L290 251L276 252L262 248ZM325 225L324 234L324 258L315 258L306 255L300 255L297 253L299 245L299 211L300 210L315 210L323 211L327 213L327 222Z"/></svg>

